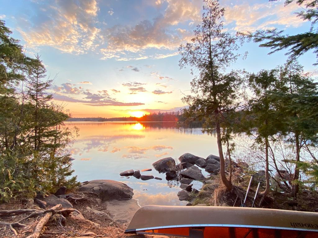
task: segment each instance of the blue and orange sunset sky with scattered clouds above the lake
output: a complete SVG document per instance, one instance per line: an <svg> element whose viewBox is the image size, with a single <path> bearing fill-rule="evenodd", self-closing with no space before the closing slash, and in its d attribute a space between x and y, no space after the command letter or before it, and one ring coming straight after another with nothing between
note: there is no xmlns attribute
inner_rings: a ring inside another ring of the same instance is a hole
<svg viewBox="0 0 318 238"><path fill-rule="evenodd" d="M139 116L176 111L190 94L193 75L180 69L178 47L190 42L201 22L201 0L0 0L0 19L26 54L41 55L50 93L73 117ZM283 1L220 0L224 30L235 34L278 28L287 34L308 31L296 17L301 8ZM248 51L231 69L258 72L287 60L286 52L246 42ZM315 75L312 52L299 58Z"/></svg>

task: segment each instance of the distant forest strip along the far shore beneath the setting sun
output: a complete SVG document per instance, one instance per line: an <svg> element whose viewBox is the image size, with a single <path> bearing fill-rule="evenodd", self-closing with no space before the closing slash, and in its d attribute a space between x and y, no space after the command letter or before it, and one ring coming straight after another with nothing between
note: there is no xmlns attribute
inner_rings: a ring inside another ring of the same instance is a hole
<svg viewBox="0 0 318 238"><path fill-rule="evenodd" d="M119 121L137 121L137 122L184 122L185 116L183 112L158 112L158 113L150 113L144 115L142 117L112 117L112 118L104 118L104 117L73 117L68 118L67 122L119 122Z"/></svg>

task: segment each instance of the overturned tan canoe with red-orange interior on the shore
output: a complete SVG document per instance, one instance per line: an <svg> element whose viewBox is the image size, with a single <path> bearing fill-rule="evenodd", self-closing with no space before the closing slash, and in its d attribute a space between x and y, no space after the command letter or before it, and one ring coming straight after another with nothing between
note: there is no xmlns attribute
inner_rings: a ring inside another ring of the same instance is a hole
<svg viewBox="0 0 318 238"><path fill-rule="evenodd" d="M265 208L139 208L125 233L193 238L318 238L318 213Z"/></svg>

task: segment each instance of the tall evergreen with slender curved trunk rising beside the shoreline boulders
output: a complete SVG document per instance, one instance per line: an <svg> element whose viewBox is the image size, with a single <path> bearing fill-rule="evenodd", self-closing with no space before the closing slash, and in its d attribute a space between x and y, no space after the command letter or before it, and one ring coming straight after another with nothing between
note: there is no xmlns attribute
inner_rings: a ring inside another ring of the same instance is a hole
<svg viewBox="0 0 318 238"><path fill-rule="evenodd" d="M222 71L240 56L234 52L238 50L237 42L242 37L231 36L223 30L222 17L225 10L219 8L218 1L205 0L204 3L202 24L194 31L191 43L179 47L180 67L189 65L199 72L191 82L193 96L183 98L183 102L189 105L185 116L190 121L194 120L193 117L203 119L203 128L216 132L221 180L231 190L232 183L225 175L221 124L226 120L225 113L234 110L241 82L238 71Z"/></svg>

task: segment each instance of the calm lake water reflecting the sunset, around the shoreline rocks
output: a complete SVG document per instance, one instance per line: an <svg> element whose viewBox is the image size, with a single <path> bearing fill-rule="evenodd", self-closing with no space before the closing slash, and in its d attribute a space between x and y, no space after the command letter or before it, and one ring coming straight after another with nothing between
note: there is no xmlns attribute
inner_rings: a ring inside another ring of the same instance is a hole
<svg viewBox="0 0 318 238"><path fill-rule="evenodd" d="M178 200L177 193L181 190L178 184L166 181L165 174L157 172L151 164L165 157L177 160L184 153L206 158L217 155L218 149L216 138L203 134L199 123L191 124L188 129L177 129L176 125L176 122L66 122L68 127L79 128L80 135L70 149L78 180L124 182L134 189L133 198L141 206L185 205L187 202ZM152 171L141 174L160 177L161 181L119 175L127 169L150 168ZM201 186L195 182L193 187Z"/></svg>

